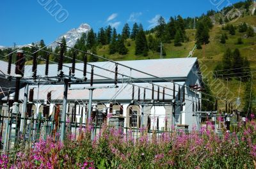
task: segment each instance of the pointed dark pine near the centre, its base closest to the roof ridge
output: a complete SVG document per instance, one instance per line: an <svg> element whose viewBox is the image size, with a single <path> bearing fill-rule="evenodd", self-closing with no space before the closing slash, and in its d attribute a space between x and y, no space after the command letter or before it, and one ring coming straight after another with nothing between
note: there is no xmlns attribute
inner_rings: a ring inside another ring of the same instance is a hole
<svg viewBox="0 0 256 169"><path fill-rule="evenodd" d="M140 55L140 54L143 54L144 56L147 55L147 52L148 52L147 38L145 36L143 27L141 24L140 24L140 31L136 36L135 45L136 45L135 47L136 55Z"/></svg>

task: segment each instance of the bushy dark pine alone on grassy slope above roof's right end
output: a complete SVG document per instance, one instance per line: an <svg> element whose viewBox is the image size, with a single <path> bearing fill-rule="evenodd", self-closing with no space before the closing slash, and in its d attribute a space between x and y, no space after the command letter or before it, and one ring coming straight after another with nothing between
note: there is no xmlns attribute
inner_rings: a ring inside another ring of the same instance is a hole
<svg viewBox="0 0 256 169"><path fill-rule="evenodd" d="M202 48L202 44L209 43L209 28L205 26L202 22L199 22L196 28L196 45L197 48Z"/></svg>

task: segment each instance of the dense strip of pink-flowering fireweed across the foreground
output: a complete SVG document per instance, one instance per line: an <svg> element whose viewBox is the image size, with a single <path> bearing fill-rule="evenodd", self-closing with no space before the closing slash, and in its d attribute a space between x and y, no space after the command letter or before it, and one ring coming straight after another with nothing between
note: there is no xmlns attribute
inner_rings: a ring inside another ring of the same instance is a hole
<svg viewBox="0 0 256 169"><path fill-rule="evenodd" d="M236 132L214 133L214 126L191 133L140 136L104 124L91 138L93 126L67 133L65 142L48 137L29 149L0 157L0 168L255 168L256 121L238 124Z"/></svg>

